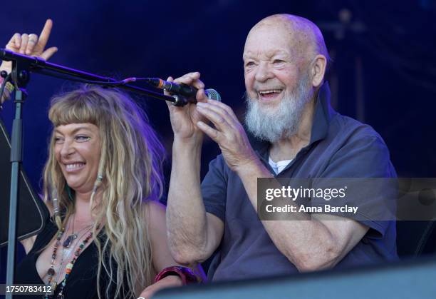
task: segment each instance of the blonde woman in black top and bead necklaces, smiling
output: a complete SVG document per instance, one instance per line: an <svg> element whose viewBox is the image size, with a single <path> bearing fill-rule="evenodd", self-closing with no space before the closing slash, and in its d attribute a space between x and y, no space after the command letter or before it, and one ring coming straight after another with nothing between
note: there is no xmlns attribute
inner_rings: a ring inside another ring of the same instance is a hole
<svg viewBox="0 0 436 299"><path fill-rule="evenodd" d="M33 37L36 46L43 39L38 52L28 49L27 37L24 53L47 53L50 29L48 21L39 41ZM9 49L22 51L25 39L15 35ZM83 86L54 97L48 117L53 132L43 199L53 216L22 242L27 255L15 283L44 283L53 291L46 298L148 298L196 280L189 269L172 267L165 208L157 202L164 149L135 102L116 90Z"/></svg>

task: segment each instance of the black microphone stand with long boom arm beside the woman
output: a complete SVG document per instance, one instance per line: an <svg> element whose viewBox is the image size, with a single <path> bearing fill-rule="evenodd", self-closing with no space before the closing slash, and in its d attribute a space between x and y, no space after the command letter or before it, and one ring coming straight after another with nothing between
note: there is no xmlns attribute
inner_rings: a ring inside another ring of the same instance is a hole
<svg viewBox="0 0 436 299"><path fill-rule="evenodd" d="M16 253L16 224L17 213L19 208L19 173L23 161L23 104L26 101L28 93L26 86L30 81L30 74L37 73L45 76L63 78L71 81L85 83L94 83L105 87L118 87L126 91L133 91L152 98L171 101L176 106L183 106L187 103L186 98L182 96L166 96L162 93L156 93L144 88L132 86L116 81L114 78L98 76L85 71L70 69L66 66L51 64L38 57L17 54L6 49L0 49L0 59L12 61L12 82L15 86L15 118L12 124L11 140L11 194L9 198L9 231L8 231L8 255L6 270L6 285L14 283L14 264ZM12 298L12 293L6 294L7 299Z"/></svg>

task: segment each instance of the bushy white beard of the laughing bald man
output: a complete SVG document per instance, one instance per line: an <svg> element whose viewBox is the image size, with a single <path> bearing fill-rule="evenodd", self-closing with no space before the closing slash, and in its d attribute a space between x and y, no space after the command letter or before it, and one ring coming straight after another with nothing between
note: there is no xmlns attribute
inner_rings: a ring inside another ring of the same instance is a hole
<svg viewBox="0 0 436 299"><path fill-rule="evenodd" d="M279 139L294 136L299 130L301 116L306 103L313 96L308 84L308 74L299 80L292 91L287 91L278 107L261 106L246 93L247 112L245 123L250 133L263 141L276 143Z"/></svg>

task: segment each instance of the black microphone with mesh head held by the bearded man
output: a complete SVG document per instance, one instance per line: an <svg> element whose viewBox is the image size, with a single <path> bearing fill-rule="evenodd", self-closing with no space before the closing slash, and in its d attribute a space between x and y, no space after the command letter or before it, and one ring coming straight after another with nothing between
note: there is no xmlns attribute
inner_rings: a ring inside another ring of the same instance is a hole
<svg viewBox="0 0 436 299"><path fill-rule="evenodd" d="M195 96L197 95L198 89L186 84L177 84L175 82L165 81L160 78L128 78L126 80L128 82L145 81L156 88L164 89L165 91L175 95L184 96L189 103L197 103ZM204 90L204 93L206 93L206 96L209 98L209 100L221 101L221 96L219 95L218 91L212 88Z"/></svg>

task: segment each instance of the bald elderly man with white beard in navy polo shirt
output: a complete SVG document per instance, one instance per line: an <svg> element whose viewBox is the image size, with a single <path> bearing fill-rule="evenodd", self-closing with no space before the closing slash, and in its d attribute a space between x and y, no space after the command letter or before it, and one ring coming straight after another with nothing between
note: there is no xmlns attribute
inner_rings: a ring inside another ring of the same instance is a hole
<svg viewBox="0 0 436 299"><path fill-rule="evenodd" d="M311 21L285 14L261 20L247 36L243 59L246 127L254 138L229 106L207 101L199 73L175 80L199 88L196 106L170 106L167 225L175 260L198 263L219 249L209 277L229 280L397 258L393 222L323 213L259 220L256 178L378 178L395 170L378 133L331 108L328 52ZM200 186L204 133L222 154Z"/></svg>

